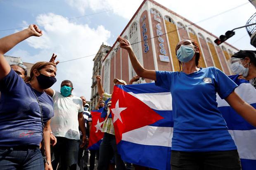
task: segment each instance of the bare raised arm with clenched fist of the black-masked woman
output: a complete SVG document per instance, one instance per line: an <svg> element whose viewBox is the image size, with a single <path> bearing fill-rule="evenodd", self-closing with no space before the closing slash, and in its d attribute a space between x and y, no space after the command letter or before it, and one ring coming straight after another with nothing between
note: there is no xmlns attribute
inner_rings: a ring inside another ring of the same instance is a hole
<svg viewBox="0 0 256 170"><path fill-rule="evenodd" d="M4 54L12 49L19 42L26 40L28 37L40 37L42 31L36 25L30 25L27 29L18 33L8 35L0 39L0 80L7 76L11 70L8 62L4 58Z"/></svg>

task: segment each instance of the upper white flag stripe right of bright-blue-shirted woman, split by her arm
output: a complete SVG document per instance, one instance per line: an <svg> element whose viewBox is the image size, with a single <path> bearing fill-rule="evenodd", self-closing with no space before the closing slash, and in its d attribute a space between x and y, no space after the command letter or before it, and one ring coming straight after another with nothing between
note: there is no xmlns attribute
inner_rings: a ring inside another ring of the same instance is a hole
<svg viewBox="0 0 256 170"><path fill-rule="evenodd" d="M245 91L246 90L246 91ZM250 83L242 83L236 89L235 92L249 104L256 103L256 89ZM226 100L222 100L217 93L218 107L230 106Z"/></svg>

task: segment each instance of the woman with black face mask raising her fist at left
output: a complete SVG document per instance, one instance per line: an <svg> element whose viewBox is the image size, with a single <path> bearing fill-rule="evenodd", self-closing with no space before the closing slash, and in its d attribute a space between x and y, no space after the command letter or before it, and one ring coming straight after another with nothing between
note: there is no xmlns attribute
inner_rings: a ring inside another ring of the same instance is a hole
<svg viewBox="0 0 256 170"><path fill-rule="evenodd" d="M55 82L56 64L38 62L24 80L12 70L4 54L28 37L40 37L36 25L0 39L0 167L2 169L52 169L50 118L52 98L44 92ZM44 136L44 138L43 138ZM40 152L44 140L45 157ZM44 163L45 162L45 163ZM44 166L45 165L45 166Z"/></svg>

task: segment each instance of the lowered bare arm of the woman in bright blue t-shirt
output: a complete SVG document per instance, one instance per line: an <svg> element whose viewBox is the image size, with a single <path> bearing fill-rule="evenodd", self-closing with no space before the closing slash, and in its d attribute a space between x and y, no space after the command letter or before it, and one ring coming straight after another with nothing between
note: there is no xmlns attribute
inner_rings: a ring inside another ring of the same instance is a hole
<svg viewBox="0 0 256 170"><path fill-rule="evenodd" d="M254 107L242 100L235 92L228 95L225 100L240 116L256 127L256 109Z"/></svg>

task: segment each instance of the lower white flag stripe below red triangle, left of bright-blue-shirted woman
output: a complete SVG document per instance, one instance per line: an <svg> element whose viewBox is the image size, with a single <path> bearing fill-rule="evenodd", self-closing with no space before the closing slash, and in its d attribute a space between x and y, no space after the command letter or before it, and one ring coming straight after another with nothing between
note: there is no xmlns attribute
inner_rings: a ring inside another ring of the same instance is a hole
<svg viewBox="0 0 256 170"><path fill-rule="evenodd" d="M136 144L171 147L172 137L172 127L144 126L123 133L122 140Z"/></svg>

